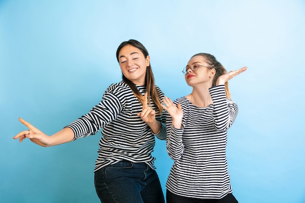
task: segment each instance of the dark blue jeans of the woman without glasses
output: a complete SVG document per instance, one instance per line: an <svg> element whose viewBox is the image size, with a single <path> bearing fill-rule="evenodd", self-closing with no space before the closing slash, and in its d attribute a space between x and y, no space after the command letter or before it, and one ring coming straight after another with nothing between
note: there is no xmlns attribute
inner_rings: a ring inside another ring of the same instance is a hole
<svg viewBox="0 0 305 203"><path fill-rule="evenodd" d="M145 163L120 161L95 171L101 203L165 203L159 177Z"/></svg>

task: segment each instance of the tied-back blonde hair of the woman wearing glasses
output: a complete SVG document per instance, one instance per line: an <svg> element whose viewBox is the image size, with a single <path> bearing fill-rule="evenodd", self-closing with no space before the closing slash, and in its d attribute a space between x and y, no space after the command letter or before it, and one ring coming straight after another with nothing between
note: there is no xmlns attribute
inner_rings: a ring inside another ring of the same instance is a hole
<svg viewBox="0 0 305 203"><path fill-rule="evenodd" d="M207 54L207 53L199 53L199 54L193 55L192 57L194 57L196 55L203 56L206 59L206 62L208 63L208 68L215 69L216 74L214 75L214 78L213 78L212 87L216 86L216 81L217 81L218 77L220 75L226 74L227 70L225 69L225 67L219 61L217 61L217 59L213 55L210 55L210 54ZM228 81L225 83L225 90L226 90L227 99L231 99L231 93L229 91Z"/></svg>

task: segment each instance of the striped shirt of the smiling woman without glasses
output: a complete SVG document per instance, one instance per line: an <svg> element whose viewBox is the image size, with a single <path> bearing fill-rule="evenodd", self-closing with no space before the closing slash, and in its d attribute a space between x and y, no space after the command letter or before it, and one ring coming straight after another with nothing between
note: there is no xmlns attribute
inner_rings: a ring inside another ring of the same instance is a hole
<svg viewBox="0 0 305 203"><path fill-rule="evenodd" d="M137 85L137 88L144 95L146 86ZM156 89L163 98L164 93L159 87ZM152 109L158 111L153 103ZM156 115L156 120L161 122L162 127L158 134L153 134L137 115L141 111L141 103L130 87L121 81L109 86L98 105L67 127L74 131L74 140L94 135L103 128L95 171L122 160L145 162L155 169L155 158L151 154L155 145L154 135L161 140L166 139L166 113Z"/></svg>

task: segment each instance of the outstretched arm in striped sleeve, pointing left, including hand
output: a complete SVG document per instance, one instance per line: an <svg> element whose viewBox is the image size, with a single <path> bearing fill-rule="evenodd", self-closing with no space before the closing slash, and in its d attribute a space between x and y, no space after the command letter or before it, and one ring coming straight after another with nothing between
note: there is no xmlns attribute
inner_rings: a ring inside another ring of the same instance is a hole
<svg viewBox="0 0 305 203"><path fill-rule="evenodd" d="M120 110L121 106L118 98L111 92L105 92L102 101L92 108L89 113L78 118L52 136L44 134L30 123L19 118L19 121L30 130L30 133L28 130L24 130L13 138L19 138L19 142L22 142L25 138L29 138L32 142L42 147L60 145L95 134L103 126L114 120Z"/></svg>

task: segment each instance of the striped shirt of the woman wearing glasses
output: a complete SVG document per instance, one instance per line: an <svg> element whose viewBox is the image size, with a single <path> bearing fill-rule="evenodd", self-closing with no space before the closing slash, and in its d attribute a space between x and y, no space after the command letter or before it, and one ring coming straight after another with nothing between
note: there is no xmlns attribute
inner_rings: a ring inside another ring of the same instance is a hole
<svg viewBox="0 0 305 203"><path fill-rule="evenodd" d="M167 150L174 160L167 189L201 199L220 199L232 192L226 157L227 130L238 107L226 99L225 86L209 89L213 104L198 108L186 97L178 98L184 112L182 129L167 116Z"/></svg>

